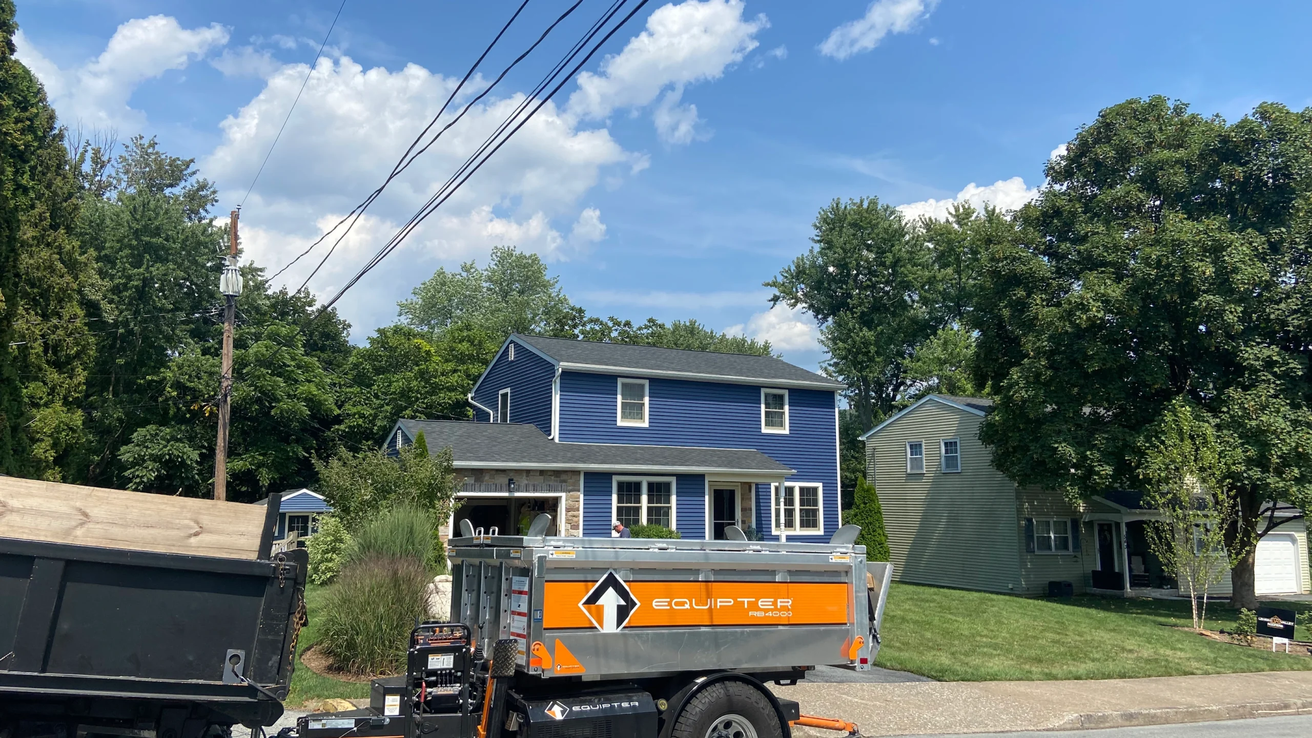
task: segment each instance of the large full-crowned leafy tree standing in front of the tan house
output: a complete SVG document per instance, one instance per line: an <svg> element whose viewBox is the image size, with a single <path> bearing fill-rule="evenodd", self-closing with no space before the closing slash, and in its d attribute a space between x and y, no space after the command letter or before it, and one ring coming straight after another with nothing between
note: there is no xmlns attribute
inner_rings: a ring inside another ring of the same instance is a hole
<svg viewBox="0 0 1312 738"><path fill-rule="evenodd" d="M1047 166L1017 243L983 256L981 439L1019 484L1135 485L1177 397L1216 429L1237 520L1235 607L1254 607L1263 503L1312 505L1312 110L1227 125L1165 98L1103 110Z"/></svg>

